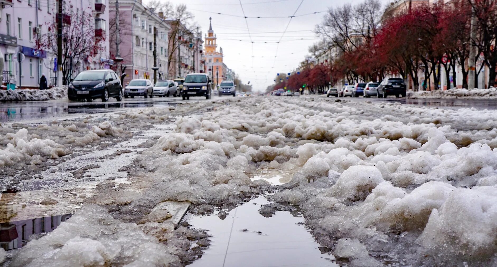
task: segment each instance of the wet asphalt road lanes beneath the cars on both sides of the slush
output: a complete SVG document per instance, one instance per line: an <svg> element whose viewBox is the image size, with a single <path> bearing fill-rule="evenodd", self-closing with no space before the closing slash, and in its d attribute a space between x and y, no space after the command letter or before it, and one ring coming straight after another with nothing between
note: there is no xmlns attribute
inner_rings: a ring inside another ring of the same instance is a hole
<svg viewBox="0 0 497 267"><path fill-rule="evenodd" d="M219 98L229 98L231 96L213 96L213 100ZM289 97L289 96L266 96L266 97ZM324 97L324 95L311 95L302 97ZM331 96L330 99L334 97ZM340 98L351 101L394 101L403 104L413 104L418 106L440 107L440 108L468 108L477 109L496 109L497 99L406 99L406 98ZM133 107L164 107L183 102L205 101L204 97L191 97L190 100L182 100L181 97L154 97L154 98L124 98L117 102L114 98L108 102L93 100L92 102L75 102L68 99L49 100L49 101L19 101L19 102L0 102L0 122L15 122L25 120L47 119L52 117L61 117L67 115L76 115L80 113L100 113L118 111L124 108Z"/></svg>

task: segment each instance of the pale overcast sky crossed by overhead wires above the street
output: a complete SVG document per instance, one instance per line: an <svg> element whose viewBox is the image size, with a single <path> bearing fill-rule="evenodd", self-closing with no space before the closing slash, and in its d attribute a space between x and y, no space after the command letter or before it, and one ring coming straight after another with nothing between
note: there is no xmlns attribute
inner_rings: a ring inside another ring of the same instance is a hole
<svg viewBox="0 0 497 267"><path fill-rule="evenodd" d="M308 47L318 41L313 33L315 25L323 19L330 6L342 5L341 0L170 0L174 4L184 3L195 15L203 35L212 28L217 34L218 49L223 48L224 63L240 75L246 84L250 81L254 91L264 91L273 84L277 73L288 73L295 69L308 54ZM352 0L352 4L361 0ZM388 2L388 0L384 0ZM268 16L273 18L243 17ZM209 13L213 12L213 13ZM296 12L296 13L295 13ZM220 15L217 13L229 14ZM290 18L295 13L290 24ZM236 16L242 17L236 17ZM274 18L282 17L282 18ZM288 29L283 35L283 31ZM250 36L253 43L250 42ZM275 33L261 33L275 32ZM304 40L296 40L296 39ZM279 45L276 43L281 39ZM242 40L242 41L240 41ZM264 43L267 42L267 43ZM276 56L276 58L275 58Z"/></svg>

